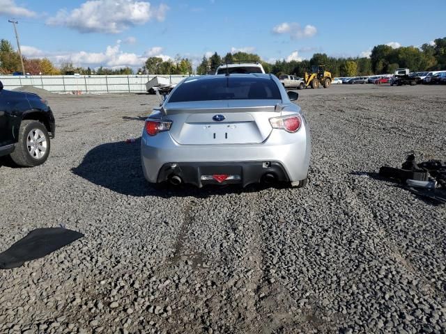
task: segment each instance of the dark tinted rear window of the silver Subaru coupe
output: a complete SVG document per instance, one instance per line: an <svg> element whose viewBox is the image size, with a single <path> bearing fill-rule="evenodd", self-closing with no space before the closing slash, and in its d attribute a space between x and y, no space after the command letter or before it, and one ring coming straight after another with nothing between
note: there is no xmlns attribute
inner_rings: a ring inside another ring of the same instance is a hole
<svg viewBox="0 0 446 334"><path fill-rule="evenodd" d="M168 102L215 100L282 100L282 96L272 79L213 77L184 81L171 93Z"/></svg>

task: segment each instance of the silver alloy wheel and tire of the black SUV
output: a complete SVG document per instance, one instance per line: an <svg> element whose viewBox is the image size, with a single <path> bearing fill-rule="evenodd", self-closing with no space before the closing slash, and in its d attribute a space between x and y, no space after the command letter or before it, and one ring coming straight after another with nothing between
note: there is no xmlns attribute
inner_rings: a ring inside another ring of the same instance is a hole
<svg viewBox="0 0 446 334"><path fill-rule="evenodd" d="M10 157L22 167L38 166L47 160L50 147L45 125L37 120L24 120L20 125L19 141Z"/></svg>

